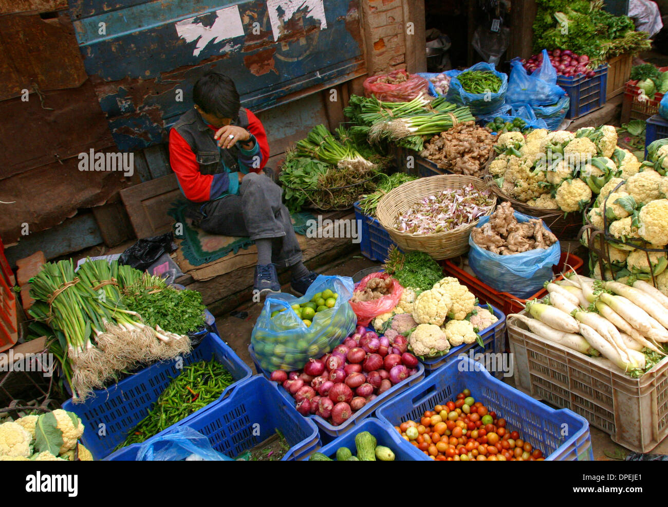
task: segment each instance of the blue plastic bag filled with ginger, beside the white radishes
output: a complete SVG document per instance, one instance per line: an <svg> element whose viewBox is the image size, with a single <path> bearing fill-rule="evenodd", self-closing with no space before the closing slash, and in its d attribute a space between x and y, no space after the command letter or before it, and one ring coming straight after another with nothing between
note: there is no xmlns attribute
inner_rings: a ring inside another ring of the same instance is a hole
<svg viewBox="0 0 668 507"><path fill-rule="evenodd" d="M520 223L533 218L517 211L514 215ZM476 227L482 227L489 219L489 216L480 217ZM558 264L561 256L558 241L547 249L536 248L510 256L483 249L470 236L468 244L468 264L476 276L494 290L510 292L520 299L530 298L542 288L545 280L552 279L552 266Z"/></svg>

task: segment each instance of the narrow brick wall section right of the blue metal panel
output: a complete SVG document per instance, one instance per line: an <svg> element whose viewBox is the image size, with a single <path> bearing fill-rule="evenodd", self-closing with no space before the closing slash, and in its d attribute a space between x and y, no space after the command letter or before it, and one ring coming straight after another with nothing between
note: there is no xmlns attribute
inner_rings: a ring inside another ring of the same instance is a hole
<svg viewBox="0 0 668 507"><path fill-rule="evenodd" d="M406 28L402 0L362 0L369 76L405 69Z"/></svg>

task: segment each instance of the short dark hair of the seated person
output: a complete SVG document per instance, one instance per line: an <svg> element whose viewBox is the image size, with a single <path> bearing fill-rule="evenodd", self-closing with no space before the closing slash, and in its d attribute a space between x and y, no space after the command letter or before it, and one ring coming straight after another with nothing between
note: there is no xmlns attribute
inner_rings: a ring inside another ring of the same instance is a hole
<svg viewBox="0 0 668 507"><path fill-rule="evenodd" d="M199 78L192 88L192 100L206 114L236 120L241 102L234 81L212 70Z"/></svg>

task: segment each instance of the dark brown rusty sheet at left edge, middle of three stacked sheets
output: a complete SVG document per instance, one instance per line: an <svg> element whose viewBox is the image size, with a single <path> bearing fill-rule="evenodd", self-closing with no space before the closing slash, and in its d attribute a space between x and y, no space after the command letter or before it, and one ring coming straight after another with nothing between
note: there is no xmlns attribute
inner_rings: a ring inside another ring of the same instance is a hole
<svg viewBox="0 0 668 507"><path fill-rule="evenodd" d="M43 102L37 94L27 102L0 102L0 180L90 148L114 146L90 80L42 96Z"/></svg>

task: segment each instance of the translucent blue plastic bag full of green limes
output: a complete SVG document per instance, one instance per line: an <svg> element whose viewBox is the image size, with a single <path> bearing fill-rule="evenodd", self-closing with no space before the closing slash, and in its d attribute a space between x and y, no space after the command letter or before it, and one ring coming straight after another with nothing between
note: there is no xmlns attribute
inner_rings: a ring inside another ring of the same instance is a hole
<svg viewBox="0 0 668 507"><path fill-rule="evenodd" d="M310 357L321 357L340 344L357 324L349 304L353 285L348 276L319 275L301 298L285 293L267 298L251 335L260 366L267 371L301 369ZM326 289L338 294L335 305L317 312L307 326L291 305L309 302ZM273 312L278 313L272 317Z"/></svg>

